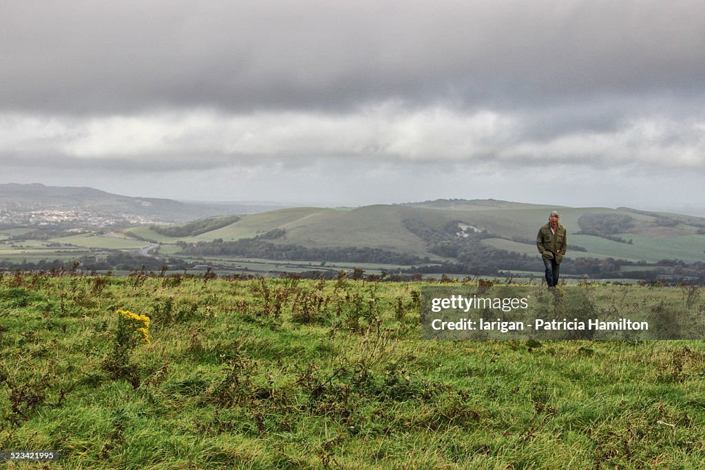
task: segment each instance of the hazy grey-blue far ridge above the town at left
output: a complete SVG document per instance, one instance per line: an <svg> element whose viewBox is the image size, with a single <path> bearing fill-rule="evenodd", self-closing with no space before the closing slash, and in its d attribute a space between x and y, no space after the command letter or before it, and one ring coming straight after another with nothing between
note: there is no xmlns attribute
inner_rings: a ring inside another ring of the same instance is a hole
<svg viewBox="0 0 705 470"><path fill-rule="evenodd" d="M13 213L54 209L82 211L97 216L136 216L153 221L187 222L209 216L253 214L278 207L281 206L187 203L153 197L128 197L91 187L54 187L36 183L0 185L0 209Z"/></svg>

